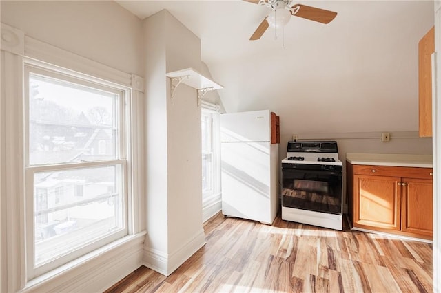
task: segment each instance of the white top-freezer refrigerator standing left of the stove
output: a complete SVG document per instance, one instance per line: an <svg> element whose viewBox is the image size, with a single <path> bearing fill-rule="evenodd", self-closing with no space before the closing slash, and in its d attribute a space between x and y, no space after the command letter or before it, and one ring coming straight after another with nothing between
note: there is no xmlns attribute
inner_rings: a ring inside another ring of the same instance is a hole
<svg viewBox="0 0 441 293"><path fill-rule="evenodd" d="M220 116L222 213L272 224L278 211L278 144L271 112Z"/></svg>

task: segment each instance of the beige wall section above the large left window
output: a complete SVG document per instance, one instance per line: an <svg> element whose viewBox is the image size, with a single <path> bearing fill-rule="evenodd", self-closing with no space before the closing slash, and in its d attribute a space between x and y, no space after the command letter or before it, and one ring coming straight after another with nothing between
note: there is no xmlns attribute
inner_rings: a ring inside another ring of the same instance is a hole
<svg viewBox="0 0 441 293"><path fill-rule="evenodd" d="M114 1L1 1L1 21L99 63L143 74L141 20Z"/></svg>

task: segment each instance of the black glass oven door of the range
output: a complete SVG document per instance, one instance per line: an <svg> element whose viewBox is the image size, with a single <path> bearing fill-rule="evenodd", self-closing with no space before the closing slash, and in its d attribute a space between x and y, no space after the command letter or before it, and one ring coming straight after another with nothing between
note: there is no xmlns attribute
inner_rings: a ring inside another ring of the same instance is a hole
<svg viewBox="0 0 441 293"><path fill-rule="evenodd" d="M282 169L282 206L342 215L342 171Z"/></svg>

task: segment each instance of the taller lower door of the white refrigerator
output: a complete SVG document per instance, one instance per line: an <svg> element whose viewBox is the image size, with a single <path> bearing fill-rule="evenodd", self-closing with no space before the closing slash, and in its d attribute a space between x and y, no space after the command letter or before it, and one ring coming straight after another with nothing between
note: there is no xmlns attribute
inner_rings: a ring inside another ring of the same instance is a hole
<svg viewBox="0 0 441 293"><path fill-rule="evenodd" d="M222 213L271 224L276 216L271 193L271 144L223 143L221 148Z"/></svg>

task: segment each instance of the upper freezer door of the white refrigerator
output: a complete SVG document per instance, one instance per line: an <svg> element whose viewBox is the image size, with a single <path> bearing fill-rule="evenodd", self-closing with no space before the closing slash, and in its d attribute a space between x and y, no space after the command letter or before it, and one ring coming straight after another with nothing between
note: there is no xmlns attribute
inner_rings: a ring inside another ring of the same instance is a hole
<svg viewBox="0 0 441 293"><path fill-rule="evenodd" d="M271 112L263 110L220 115L220 141L271 141Z"/></svg>

